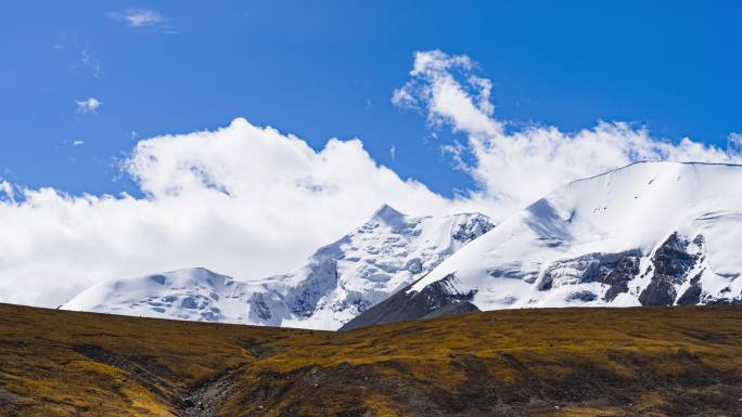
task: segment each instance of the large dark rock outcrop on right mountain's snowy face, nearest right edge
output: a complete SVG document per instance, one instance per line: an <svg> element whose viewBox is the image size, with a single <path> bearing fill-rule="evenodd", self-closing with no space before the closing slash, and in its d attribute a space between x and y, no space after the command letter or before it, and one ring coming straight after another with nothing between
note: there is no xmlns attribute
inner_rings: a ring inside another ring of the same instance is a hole
<svg viewBox="0 0 742 417"><path fill-rule="evenodd" d="M699 235L694 244L702 246L703 236ZM639 302L642 305L673 305L677 298L675 286L682 284L686 281L688 271L693 268L695 262L701 260L700 255L690 255L687 249L690 242L683 239L678 233L673 233L667 240L654 252L652 257L652 266L654 275L652 282L639 295ZM693 288L693 287L691 287ZM694 300L694 291L691 290L683 302L691 302ZM683 294L683 296L686 296ZM700 297L700 294L698 295Z"/></svg>

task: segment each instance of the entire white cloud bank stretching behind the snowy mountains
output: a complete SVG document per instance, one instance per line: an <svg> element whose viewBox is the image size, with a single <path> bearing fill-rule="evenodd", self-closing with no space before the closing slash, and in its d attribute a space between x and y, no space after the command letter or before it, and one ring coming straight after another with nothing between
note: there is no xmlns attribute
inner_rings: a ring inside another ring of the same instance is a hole
<svg viewBox="0 0 742 417"><path fill-rule="evenodd" d="M476 183L455 198L380 166L359 140L332 139L315 151L245 119L138 142L121 169L141 196L72 196L0 181L0 301L55 307L102 279L189 266L259 279L295 266L383 203L411 214L479 210L501 219L558 185L634 160L737 160L621 122L508 131L490 92L476 63L440 51L417 53L394 92L396 105L423 112L432 129L465 135L442 144Z"/></svg>

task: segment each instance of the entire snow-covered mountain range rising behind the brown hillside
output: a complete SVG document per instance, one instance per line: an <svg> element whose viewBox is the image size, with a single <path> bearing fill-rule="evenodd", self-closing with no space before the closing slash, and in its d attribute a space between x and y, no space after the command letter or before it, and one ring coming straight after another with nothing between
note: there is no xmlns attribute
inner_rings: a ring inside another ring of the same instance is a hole
<svg viewBox="0 0 742 417"><path fill-rule="evenodd" d="M742 302L742 166L638 162L499 224L383 206L284 275L204 269L95 285L62 309L319 329L477 310Z"/></svg>

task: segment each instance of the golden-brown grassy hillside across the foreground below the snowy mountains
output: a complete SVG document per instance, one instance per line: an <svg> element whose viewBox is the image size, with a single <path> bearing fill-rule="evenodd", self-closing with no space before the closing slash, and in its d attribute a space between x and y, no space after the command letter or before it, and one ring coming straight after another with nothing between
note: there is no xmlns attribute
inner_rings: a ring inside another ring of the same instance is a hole
<svg viewBox="0 0 742 417"><path fill-rule="evenodd" d="M0 304L0 415L742 415L742 308L342 333Z"/></svg>

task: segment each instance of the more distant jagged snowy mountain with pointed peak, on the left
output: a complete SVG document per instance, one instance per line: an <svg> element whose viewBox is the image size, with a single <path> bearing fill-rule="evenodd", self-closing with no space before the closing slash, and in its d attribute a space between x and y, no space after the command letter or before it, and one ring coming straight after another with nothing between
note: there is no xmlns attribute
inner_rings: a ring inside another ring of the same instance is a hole
<svg viewBox="0 0 742 417"><path fill-rule="evenodd" d="M492 227L478 213L415 218L384 205L363 225L285 275L245 282L187 269L101 283L61 308L336 329Z"/></svg>

